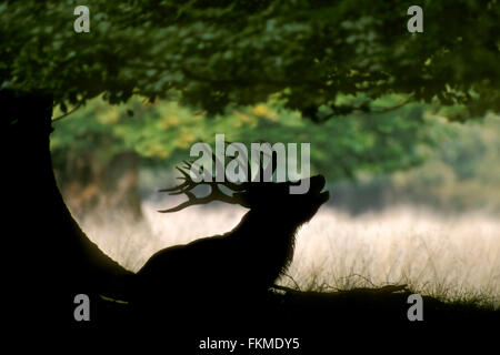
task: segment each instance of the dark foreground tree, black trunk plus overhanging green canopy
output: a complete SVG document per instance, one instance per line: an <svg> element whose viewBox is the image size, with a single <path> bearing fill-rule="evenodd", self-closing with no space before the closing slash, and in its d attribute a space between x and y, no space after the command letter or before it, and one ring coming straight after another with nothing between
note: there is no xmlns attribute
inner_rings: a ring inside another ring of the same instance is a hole
<svg viewBox="0 0 500 355"><path fill-rule="evenodd" d="M66 111L101 93L110 103L140 94L218 113L280 94L287 108L321 122L376 111L372 100L397 92L461 104L470 114L498 111L497 1L422 1L424 32L413 34L406 30L410 4L92 1L90 32L74 33L76 1L2 2L4 166L19 212L11 246L31 243L21 273L32 275L38 265L51 271L43 281L31 277L30 286L72 307L77 290L116 291L123 284L117 275L128 276L79 230L57 190L48 139L54 104ZM353 100L339 103L339 94ZM32 213L21 213L20 201Z"/></svg>

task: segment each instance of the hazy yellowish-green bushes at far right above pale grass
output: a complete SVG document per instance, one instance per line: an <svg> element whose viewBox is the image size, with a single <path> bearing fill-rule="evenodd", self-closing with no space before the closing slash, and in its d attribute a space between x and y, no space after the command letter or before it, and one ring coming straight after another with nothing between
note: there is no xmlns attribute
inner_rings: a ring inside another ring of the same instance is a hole
<svg viewBox="0 0 500 355"><path fill-rule="evenodd" d="M392 179L400 194L440 210L500 211L500 116L480 124L447 124L434 153L422 166Z"/></svg>

